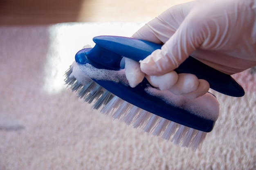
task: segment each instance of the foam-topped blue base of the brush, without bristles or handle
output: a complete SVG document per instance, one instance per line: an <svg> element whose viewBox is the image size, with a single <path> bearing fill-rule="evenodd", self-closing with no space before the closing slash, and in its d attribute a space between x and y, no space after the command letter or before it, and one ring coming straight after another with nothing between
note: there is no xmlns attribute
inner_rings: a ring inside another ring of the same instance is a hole
<svg viewBox="0 0 256 170"><path fill-rule="evenodd" d="M131 88L124 70L99 69L88 63L74 62L70 77L74 77L82 85L87 85L90 78L132 105L204 132L210 132L218 118L218 102L211 94L187 99L182 95L174 95L170 91L160 91L151 86L146 79L135 88ZM210 105L206 107L204 101L209 102Z"/></svg>

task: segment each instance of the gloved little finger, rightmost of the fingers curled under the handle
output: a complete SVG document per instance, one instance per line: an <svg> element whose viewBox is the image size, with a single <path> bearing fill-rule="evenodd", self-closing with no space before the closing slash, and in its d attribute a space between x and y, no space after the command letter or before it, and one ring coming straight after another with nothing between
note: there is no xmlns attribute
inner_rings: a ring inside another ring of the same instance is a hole
<svg viewBox="0 0 256 170"><path fill-rule="evenodd" d="M198 88L195 91L193 91L191 93L183 94L186 98L194 99L194 98L204 95L205 93L207 93L209 91L210 84L206 80L199 79L198 81L199 81Z"/></svg>

